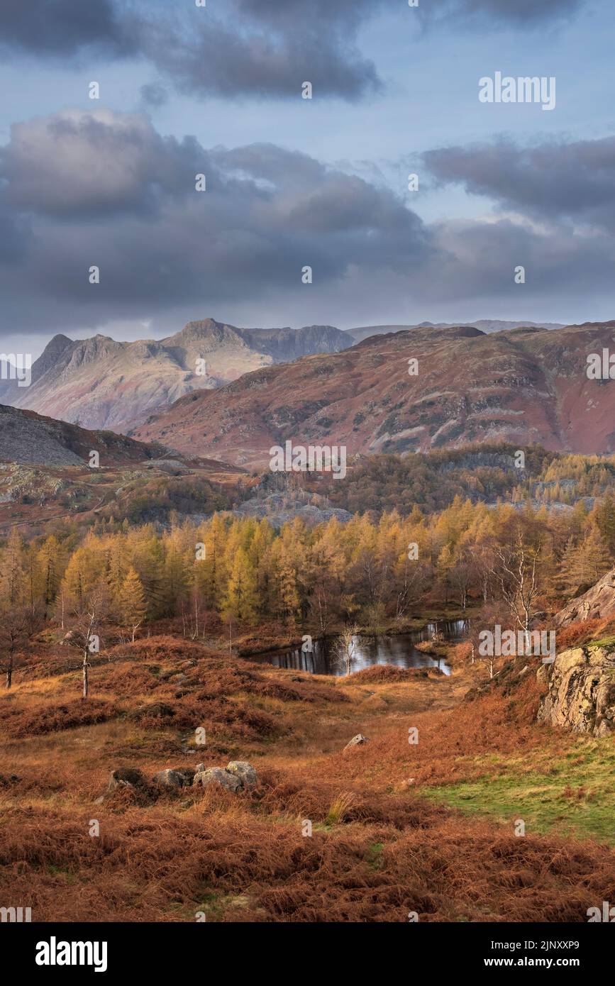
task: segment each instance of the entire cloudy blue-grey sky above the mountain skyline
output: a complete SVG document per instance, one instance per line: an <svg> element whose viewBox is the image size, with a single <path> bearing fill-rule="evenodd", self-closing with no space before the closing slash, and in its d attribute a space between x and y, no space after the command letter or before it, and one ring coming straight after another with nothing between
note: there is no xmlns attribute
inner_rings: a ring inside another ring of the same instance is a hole
<svg viewBox="0 0 615 986"><path fill-rule="evenodd" d="M614 28L611 0L2 0L0 349L615 317ZM555 106L484 102L497 73Z"/></svg>

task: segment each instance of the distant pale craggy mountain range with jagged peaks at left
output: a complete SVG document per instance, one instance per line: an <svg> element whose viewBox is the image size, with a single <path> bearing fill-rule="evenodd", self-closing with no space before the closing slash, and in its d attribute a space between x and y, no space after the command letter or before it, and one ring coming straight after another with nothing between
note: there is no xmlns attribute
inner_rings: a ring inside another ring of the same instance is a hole
<svg viewBox="0 0 615 986"><path fill-rule="evenodd" d="M188 322L159 341L96 335L73 342L56 335L34 362L31 387L0 382L0 400L87 428L125 432L190 390L220 387L251 370L352 343L331 325L245 329L213 318Z"/></svg>

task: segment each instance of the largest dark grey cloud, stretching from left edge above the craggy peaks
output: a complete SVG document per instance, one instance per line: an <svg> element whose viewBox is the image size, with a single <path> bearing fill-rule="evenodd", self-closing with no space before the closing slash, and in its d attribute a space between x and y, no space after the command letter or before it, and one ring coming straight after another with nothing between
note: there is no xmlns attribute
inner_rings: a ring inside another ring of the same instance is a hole
<svg viewBox="0 0 615 986"><path fill-rule="evenodd" d="M272 145L206 151L164 139L134 114L20 124L0 176L7 218L31 231L19 267L0 263L12 317L20 299L73 322L198 308L306 290L306 265L323 286L355 270L402 275L430 255L421 220L385 188ZM100 285L88 283L91 265Z"/></svg>

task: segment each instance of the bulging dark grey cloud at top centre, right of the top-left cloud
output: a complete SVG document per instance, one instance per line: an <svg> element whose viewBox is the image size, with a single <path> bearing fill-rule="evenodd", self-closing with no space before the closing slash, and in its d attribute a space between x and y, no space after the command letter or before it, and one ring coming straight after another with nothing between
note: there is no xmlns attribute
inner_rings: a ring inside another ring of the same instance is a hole
<svg viewBox="0 0 615 986"><path fill-rule="evenodd" d="M281 5L283 12L256 9L236 0L236 16L221 21L195 9L181 22L143 22L142 51L182 92L200 96L300 99L310 82L315 97L357 100L380 88L376 66L357 49L356 31L374 5Z"/></svg>

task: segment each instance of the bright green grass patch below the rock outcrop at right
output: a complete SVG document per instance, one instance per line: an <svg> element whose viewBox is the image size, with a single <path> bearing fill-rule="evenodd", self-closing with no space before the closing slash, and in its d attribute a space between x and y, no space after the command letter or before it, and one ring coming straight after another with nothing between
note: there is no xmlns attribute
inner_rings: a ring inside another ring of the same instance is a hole
<svg viewBox="0 0 615 986"><path fill-rule="evenodd" d="M426 788L422 794L511 826L520 818L526 834L559 831L615 845L613 740L580 740L574 750L557 758L545 749L538 756L532 751L527 757L499 754L494 763L495 759L481 758L486 768L494 769L477 779Z"/></svg>

